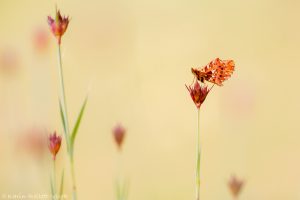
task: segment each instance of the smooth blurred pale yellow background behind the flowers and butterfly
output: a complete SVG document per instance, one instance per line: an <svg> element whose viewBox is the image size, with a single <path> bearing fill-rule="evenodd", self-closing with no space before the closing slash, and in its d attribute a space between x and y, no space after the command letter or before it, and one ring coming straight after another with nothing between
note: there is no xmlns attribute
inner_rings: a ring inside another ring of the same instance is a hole
<svg viewBox="0 0 300 200"><path fill-rule="evenodd" d="M1 0L0 195L50 192L50 154L24 143L32 130L63 131L47 25L55 5L71 17L62 41L71 124L90 91L75 149L80 199L114 199L118 122L129 199L194 199L197 112L184 84L215 57L236 71L202 108L201 198L232 199L236 174L241 200L300 199L297 0ZM71 199L65 143L63 168Z"/></svg>

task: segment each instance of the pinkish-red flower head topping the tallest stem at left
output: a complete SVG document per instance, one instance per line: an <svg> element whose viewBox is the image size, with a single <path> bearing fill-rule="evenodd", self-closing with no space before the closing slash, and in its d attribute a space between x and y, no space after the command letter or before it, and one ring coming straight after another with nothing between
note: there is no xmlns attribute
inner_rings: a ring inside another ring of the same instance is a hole
<svg viewBox="0 0 300 200"><path fill-rule="evenodd" d="M60 11L56 10L55 19L48 16L48 24L51 28L51 32L57 38L58 44L61 42L61 37L66 32L69 24L69 17L61 16Z"/></svg>

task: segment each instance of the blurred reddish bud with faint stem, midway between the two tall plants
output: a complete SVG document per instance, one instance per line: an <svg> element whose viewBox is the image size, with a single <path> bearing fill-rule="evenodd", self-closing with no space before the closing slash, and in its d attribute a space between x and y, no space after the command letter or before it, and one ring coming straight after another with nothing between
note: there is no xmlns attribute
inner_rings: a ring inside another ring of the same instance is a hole
<svg viewBox="0 0 300 200"><path fill-rule="evenodd" d="M116 142L116 145L119 150L118 155L118 177L116 180L116 199L117 200L127 200L128 199L128 191L129 191L129 183L125 181L123 178L123 174L120 173L122 163L121 163L121 153L122 153L122 145L126 134L126 129L118 124L113 128L113 137Z"/></svg>

